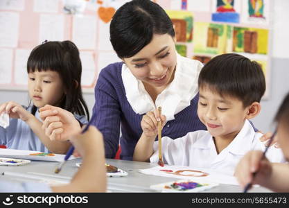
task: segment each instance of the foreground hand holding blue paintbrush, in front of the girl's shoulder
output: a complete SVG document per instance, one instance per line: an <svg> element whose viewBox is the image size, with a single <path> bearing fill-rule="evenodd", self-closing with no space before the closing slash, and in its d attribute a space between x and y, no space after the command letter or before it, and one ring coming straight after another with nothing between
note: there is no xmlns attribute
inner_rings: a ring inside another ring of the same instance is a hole
<svg viewBox="0 0 289 208"><path fill-rule="evenodd" d="M40 108L40 118L45 135L51 140L65 141L71 135L80 132L80 124L76 118L60 107L45 105Z"/></svg>

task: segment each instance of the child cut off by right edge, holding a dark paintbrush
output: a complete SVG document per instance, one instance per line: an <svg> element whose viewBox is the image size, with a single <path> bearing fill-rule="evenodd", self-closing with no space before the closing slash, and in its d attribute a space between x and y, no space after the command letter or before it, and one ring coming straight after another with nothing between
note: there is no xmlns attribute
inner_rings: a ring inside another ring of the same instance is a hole
<svg viewBox="0 0 289 208"><path fill-rule="evenodd" d="M283 99L274 121L277 123L277 141L289 162L289 94ZM236 167L236 177L242 187L248 183L260 184L278 192L289 192L289 165L271 163L268 155L253 150L247 153ZM255 173L255 174L254 174Z"/></svg>

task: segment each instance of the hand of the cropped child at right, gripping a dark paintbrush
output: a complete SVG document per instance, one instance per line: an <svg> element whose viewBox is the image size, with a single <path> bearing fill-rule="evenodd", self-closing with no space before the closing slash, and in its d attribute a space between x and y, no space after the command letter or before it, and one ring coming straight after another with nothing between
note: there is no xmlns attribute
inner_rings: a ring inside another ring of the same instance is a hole
<svg viewBox="0 0 289 208"><path fill-rule="evenodd" d="M253 173L256 175L253 177ZM267 158L263 158L263 152L253 150L247 153L238 163L235 176L241 187L248 183L264 184L272 173L272 165Z"/></svg>

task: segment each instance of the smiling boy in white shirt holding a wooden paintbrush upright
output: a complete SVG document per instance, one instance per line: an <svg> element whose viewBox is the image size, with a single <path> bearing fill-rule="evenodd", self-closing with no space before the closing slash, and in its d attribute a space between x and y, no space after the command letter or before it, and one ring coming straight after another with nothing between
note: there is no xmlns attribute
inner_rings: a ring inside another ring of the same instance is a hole
<svg viewBox="0 0 289 208"><path fill-rule="evenodd" d="M189 132L175 140L163 137L164 163L212 168L232 175L245 153L265 148L259 140L262 134L255 132L248 121L261 110L265 92L263 71L258 63L242 55L218 55L202 68L198 86L198 116L207 131ZM148 112L143 116L143 134L134 150L134 160L158 161L155 114ZM166 117L161 116L161 120L164 125ZM274 162L283 161L277 148L270 148L268 155Z"/></svg>

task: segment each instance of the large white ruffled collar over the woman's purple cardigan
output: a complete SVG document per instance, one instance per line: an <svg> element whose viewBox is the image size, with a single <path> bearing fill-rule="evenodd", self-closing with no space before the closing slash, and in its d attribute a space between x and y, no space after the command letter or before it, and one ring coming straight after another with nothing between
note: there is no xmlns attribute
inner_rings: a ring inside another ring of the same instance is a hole
<svg viewBox="0 0 289 208"><path fill-rule="evenodd" d="M191 100L198 94L198 77L202 67L202 63L198 60L191 60L177 54L175 78L157 96L154 103L143 83L132 75L126 64L123 64L121 76L132 110L137 114L145 114L161 106L161 112L166 115L166 121L175 119L174 115L188 107Z"/></svg>

